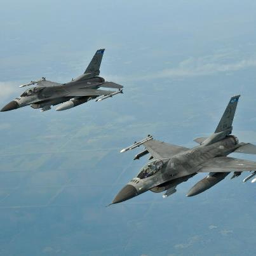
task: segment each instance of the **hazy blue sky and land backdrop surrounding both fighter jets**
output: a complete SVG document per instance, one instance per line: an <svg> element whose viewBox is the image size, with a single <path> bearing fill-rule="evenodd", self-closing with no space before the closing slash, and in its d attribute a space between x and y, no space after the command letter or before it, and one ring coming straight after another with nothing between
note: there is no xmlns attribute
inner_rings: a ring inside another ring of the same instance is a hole
<svg viewBox="0 0 256 256"><path fill-rule="evenodd" d="M1 105L22 83L65 83L105 48L124 94L63 112L1 113L0 255L253 255L255 184L105 208L147 162L123 147L152 134L194 147L241 94L233 131L256 144L255 1L1 1ZM255 160L254 156L234 157Z"/></svg>

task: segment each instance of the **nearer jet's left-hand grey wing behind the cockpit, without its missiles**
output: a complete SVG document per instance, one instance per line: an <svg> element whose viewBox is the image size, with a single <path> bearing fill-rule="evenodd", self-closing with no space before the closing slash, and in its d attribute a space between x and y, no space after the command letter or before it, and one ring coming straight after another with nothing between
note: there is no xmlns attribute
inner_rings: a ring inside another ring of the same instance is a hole
<svg viewBox="0 0 256 256"><path fill-rule="evenodd" d="M149 151L153 158L171 158L175 154L188 151L187 147L181 147L179 145L172 145L158 140L148 140L143 143L145 149Z"/></svg>

